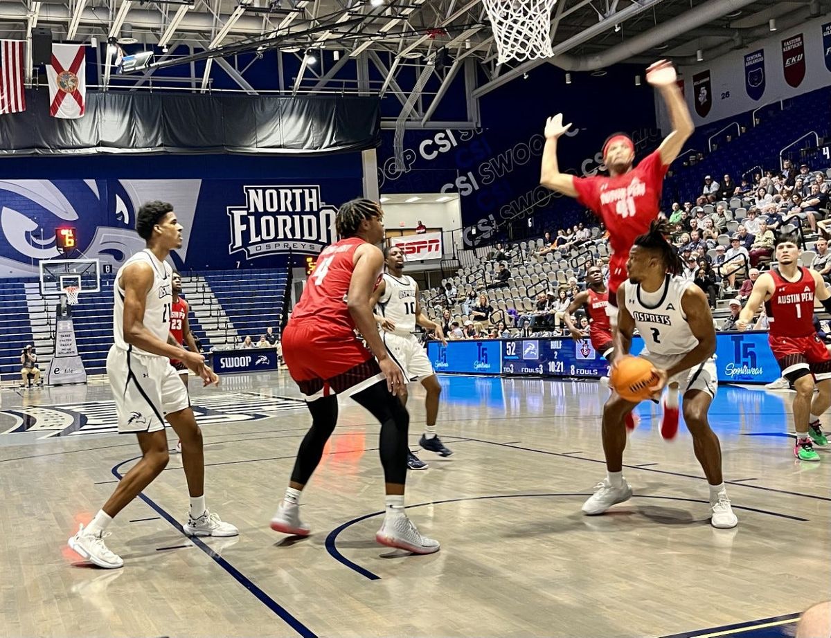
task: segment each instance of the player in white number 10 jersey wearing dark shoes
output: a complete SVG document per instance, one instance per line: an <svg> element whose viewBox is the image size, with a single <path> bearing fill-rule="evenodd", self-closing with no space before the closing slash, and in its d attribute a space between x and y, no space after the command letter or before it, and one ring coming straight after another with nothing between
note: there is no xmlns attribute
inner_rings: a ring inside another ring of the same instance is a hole
<svg viewBox="0 0 831 638"><path fill-rule="evenodd" d="M435 376L430 359L413 331L416 324L435 331L435 337L446 345L441 324L430 321L418 301L418 284L409 275L404 274L404 253L397 246L384 248L386 272L372 294L371 302L375 307L375 319L381 325L381 338L393 361L396 361L407 383L420 381L427 390L425 398L426 427L419 444L422 448L440 456L450 456L448 449L435 434L435 421L439 416L439 397L441 384ZM399 395L406 405L406 386ZM427 469L427 464L412 452L407 458L410 469Z"/></svg>

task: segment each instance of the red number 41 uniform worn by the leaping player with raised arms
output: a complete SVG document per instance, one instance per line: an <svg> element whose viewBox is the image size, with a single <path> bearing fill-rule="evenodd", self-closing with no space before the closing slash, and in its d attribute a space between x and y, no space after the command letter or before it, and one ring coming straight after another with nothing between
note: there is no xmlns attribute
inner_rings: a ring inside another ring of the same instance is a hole
<svg viewBox="0 0 831 638"><path fill-rule="evenodd" d="M646 233L658 216L661 188L668 168L661 162L661 151L656 150L628 173L573 179L578 201L592 209L609 231L613 251L609 264L609 292L612 294L626 280L626 261L635 238Z"/></svg>

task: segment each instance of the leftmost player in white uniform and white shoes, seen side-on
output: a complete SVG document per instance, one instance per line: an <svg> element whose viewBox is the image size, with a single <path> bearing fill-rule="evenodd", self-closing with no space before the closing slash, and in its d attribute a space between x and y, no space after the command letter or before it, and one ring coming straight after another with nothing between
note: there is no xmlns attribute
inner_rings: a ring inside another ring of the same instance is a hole
<svg viewBox="0 0 831 638"><path fill-rule="evenodd" d="M104 544L112 519L165 469L168 462L166 419L182 441L182 464L190 493L190 536L236 536L237 528L209 512L204 500L202 432L190 409L188 391L170 365L184 361L205 385L219 379L198 352L186 351L170 335L172 300L170 265L165 259L182 246L182 227L173 206L150 202L135 218L135 229L147 242L120 267L113 286L115 345L107 355L106 371L116 399L118 431L139 439L141 459L86 528L81 525L69 547L98 567L114 569L124 562Z"/></svg>

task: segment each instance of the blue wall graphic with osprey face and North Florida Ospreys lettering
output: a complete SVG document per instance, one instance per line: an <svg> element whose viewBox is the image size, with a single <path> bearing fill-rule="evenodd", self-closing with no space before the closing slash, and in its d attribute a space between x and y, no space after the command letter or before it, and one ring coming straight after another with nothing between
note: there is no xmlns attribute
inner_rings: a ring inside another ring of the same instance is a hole
<svg viewBox="0 0 831 638"><path fill-rule="evenodd" d="M141 204L174 205L184 227L177 267L278 267L334 241L337 206L361 193L360 179L16 179L0 181L0 277L37 274L60 258L55 231L77 230L70 258L113 267L145 247L135 233Z"/></svg>

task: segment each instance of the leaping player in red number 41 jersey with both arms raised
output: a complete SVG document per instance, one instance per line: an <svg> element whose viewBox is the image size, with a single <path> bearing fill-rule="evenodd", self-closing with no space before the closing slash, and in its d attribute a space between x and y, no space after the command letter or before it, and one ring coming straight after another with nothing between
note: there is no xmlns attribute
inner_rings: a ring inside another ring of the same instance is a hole
<svg viewBox="0 0 831 638"><path fill-rule="evenodd" d="M617 287L626 281L626 263L629 250L638 235L647 233L659 213L661 186L666 169L681 153L692 135L690 110L686 106L672 63L655 62L647 69L647 82L661 93L672 124L672 132L664 138L656 151L647 155L637 166L635 144L628 135L616 133L603 145L603 162L608 177L576 177L561 173L557 162L557 140L570 124L563 124L563 114L549 117L545 125L545 149L540 184L558 193L577 198L581 204L606 224L612 258L609 260L609 296L607 312L616 322ZM674 425L672 421L675 421ZM627 420L630 428L634 423ZM671 385L664 403L661 432L674 434L678 429L678 386Z"/></svg>

